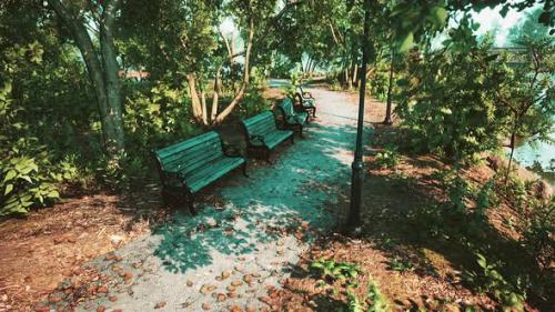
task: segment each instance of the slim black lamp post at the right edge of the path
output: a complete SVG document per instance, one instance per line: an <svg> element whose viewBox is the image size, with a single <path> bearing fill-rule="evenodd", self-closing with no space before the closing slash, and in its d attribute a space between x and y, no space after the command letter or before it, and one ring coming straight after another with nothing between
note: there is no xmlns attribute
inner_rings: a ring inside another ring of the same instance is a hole
<svg viewBox="0 0 555 312"><path fill-rule="evenodd" d="M351 210L349 212L347 225L356 228L361 224L361 199L362 183L364 178L362 159L362 135L364 130L364 101L366 98L366 64L369 62L369 32L370 32L370 1L364 1L364 34L362 38L362 66L361 66L361 88L359 95L359 123L356 125L356 148L352 164L351 178Z"/></svg>

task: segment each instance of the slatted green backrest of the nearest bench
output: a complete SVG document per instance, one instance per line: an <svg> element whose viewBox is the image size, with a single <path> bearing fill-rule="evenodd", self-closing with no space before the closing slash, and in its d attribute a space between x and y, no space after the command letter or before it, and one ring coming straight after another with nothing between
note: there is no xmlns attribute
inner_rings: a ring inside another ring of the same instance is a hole
<svg viewBox="0 0 555 312"><path fill-rule="evenodd" d="M190 173L223 155L222 140L214 131L154 151L161 171Z"/></svg>

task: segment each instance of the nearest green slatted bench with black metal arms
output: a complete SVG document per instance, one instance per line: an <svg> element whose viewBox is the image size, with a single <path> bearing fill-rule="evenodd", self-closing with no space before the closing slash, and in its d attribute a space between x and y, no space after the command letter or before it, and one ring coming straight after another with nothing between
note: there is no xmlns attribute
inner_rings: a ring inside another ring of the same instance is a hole
<svg viewBox="0 0 555 312"><path fill-rule="evenodd" d="M220 134L214 131L181 143L153 151L162 182L164 204L185 199L192 214L194 194L225 173L242 167L246 177L246 159L228 152Z"/></svg>

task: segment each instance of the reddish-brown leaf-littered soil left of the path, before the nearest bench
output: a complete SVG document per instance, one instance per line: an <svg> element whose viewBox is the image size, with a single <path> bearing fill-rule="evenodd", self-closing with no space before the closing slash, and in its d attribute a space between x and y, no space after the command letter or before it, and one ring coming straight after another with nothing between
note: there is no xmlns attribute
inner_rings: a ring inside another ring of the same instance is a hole
<svg viewBox="0 0 555 312"><path fill-rule="evenodd" d="M155 192L70 198L1 223L0 311L29 311L83 263L149 232L164 219Z"/></svg>

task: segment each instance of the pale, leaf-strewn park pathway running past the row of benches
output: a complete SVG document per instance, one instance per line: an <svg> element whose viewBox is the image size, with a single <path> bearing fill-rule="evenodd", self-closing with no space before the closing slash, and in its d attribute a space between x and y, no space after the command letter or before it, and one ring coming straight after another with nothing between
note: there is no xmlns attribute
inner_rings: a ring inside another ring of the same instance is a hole
<svg viewBox="0 0 555 312"><path fill-rule="evenodd" d="M353 97L309 89L317 119L304 140L284 143L274 164L232 173L209 190L199 215L173 222L91 263L113 276L110 296L78 310L230 311L269 308L260 299L280 288L314 232L336 225L337 193L350 181L356 130ZM183 210L184 211L184 210Z"/></svg>

